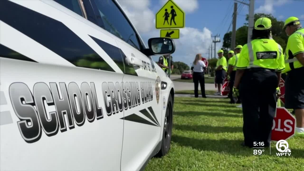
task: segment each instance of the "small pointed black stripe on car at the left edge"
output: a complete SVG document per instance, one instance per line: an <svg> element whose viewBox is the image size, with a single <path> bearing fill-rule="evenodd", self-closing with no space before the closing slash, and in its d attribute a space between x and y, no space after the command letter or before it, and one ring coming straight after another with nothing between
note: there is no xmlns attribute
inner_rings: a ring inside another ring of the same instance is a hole
<svg viewBox="0 0 304 171"><path fill-rule="evenodd" d="M34 61L33 59L26 57L2 44L0 44L0 57L3 58L10 58L10 59L18 59L22 61L30 61L30 62L37 62Z"/></svg>

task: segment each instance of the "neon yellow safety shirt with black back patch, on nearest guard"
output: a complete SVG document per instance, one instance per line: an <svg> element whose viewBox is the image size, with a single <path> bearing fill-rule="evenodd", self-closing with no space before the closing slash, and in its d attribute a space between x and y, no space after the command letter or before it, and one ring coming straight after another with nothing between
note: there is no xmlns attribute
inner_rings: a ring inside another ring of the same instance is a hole
<svg viewBox="0 0 304 171"><path fill-rule="evenodd" d="M255 39L245 44L237 60L237 69L246 68L282 72L285 69L282 47L273 39Z"/></svg>

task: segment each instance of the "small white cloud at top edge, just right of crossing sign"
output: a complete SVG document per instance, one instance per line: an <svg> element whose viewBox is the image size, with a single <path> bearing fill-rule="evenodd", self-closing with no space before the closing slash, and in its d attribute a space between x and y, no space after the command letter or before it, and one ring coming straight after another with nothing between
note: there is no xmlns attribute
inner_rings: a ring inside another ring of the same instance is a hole
<svg viewBox="0 0 304 171"><path fill-rule="evenodd" d="M168 0L161 0L161 5L164 5ZM174 0L174 3L178 5L184 12L194 12L199 8L198 0Z"/></svg>

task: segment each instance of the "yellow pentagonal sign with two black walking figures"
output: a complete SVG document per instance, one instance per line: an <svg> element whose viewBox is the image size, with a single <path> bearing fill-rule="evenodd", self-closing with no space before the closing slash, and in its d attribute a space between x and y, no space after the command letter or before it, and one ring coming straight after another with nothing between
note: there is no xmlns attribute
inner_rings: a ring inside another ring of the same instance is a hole
<svg viewBox="0 0 304 171"><path fill-rule="evenodd" d="M155 24L157 29L184 28L185 12L172 0L168 0L168 2L156 13Z"/></svg>

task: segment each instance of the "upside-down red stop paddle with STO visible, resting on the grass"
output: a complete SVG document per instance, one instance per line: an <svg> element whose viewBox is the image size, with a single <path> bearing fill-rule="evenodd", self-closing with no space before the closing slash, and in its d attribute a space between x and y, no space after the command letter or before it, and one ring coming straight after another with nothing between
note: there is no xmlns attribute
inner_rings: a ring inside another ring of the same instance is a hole
<svg viewBox="0 0 304 171"><path fill-rule="evenodd" d="M295 134L295 117L285 107L277 107L272 123L271 141L286 140Z"/></svg>

